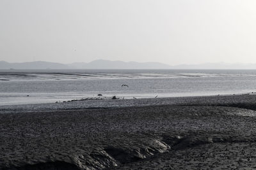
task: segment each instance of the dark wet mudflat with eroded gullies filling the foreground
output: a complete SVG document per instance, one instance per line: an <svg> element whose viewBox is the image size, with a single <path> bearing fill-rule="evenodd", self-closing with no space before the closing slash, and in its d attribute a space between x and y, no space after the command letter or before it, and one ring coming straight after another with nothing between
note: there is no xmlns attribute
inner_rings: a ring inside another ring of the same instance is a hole
<svg viewBox="0 0 256 170"><path fill-rule="evenodd" d="M255 95L147 100L2 107L0 169L256 168Z"/></svg>

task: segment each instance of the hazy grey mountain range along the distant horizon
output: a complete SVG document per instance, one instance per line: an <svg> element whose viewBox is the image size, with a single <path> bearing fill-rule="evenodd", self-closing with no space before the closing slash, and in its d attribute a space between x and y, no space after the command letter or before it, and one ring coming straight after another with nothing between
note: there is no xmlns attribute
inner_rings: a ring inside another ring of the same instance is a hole
<svg viewBox="0 0 256 170"><path fill-rule="evenodd" d="M74 62L61 64L57 62L5 62L0 61L0 69L256 69L256 64L205 63L170 66L160 62L123 62L111 60L94 60L92 62Z"/></svg>

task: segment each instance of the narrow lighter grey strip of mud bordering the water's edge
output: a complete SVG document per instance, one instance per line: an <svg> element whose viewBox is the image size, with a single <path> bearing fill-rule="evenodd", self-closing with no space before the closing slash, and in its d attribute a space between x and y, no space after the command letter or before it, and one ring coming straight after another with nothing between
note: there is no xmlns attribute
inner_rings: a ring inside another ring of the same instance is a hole
<svg viewBox="0 0 256 170"><path fill-rule="evenodd" d="M72 101L66 103L41 103L41 104L15 104L0 106L1 113L23 113L56 110L93 110L104 108L126 108L133 106L164 106L164 105L220 105L232 103L253 103L256 101L256 92L211 96L180 96L157 97L139 99L106 99Z"/></svg>

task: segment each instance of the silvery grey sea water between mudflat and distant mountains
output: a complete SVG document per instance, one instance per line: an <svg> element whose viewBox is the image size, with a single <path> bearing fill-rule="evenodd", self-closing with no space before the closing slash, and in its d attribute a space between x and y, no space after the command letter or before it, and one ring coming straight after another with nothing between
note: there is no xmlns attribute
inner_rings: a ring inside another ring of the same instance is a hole
<svg viewBox="0 0 256 170"><path fill-rule="evenodd" d="M0 105L247 92L256 92L256 70L0 70Z"/></svg>

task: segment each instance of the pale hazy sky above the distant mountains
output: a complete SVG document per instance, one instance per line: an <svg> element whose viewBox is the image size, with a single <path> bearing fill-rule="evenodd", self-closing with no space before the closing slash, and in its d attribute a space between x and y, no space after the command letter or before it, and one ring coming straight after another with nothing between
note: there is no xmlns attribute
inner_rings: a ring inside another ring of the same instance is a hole
<svg viewBox="0 0 256 170"><path fill-rule="evenodd" d="M255 0L0 0L0 60L256 63Z"/></svg>

